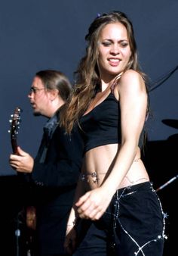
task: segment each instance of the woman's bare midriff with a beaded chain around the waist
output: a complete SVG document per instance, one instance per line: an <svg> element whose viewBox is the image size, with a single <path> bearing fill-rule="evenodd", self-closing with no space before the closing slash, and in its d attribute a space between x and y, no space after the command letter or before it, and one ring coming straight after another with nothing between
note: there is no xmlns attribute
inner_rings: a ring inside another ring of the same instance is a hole
<svg viewBox="0 0 178 256"><path fill-rule="evenodd" d="M119 144L109 144L92 148L86 152L81 173L81 180L85 183L85 189L100 187L112 171L119 148ZM149 181L149 176L141 160L140 148L137 148L137 154L130 166L130 170L128 170L122 182L118 184L118 189L146 181Z"/></svg>

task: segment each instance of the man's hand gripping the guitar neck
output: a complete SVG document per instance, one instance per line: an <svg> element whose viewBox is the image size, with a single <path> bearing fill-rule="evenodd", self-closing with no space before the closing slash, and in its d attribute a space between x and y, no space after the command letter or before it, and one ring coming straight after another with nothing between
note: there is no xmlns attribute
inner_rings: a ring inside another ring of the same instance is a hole
<svg viewBox="0 0 178 256"><path fill-rule="evenodd" d="M32 173L34 159L18 146L17 155L11 154L9 163L14 170L20 173Z"/></svg>

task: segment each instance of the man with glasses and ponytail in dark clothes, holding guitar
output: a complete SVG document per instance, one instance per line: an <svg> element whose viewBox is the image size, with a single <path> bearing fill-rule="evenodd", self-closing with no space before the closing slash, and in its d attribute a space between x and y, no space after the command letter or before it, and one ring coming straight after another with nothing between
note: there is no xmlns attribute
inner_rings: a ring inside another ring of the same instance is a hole
<svg viewBox="0 0 178 256"><path fill-rule="evenodd" d="M42 256L66 255L66 221L81 168L82 142L77 128L69 136L59 126L60 110L70 90L69 80L60 71L35 74L28 97L34 115L49 120L35 159L20 147L17 155L10 155L11 167L18 173L28 173L35 186L37 255Z"/></svg>

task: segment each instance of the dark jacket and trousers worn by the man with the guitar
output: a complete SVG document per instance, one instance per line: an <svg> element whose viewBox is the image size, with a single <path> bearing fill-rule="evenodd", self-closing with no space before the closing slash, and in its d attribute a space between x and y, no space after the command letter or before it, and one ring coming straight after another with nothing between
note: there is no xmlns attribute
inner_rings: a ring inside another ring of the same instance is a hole
<svg viewBox="0 0 178 256"><path fill-rule="evenodd" d="M31 173L35 189L39 254L64 254L66 222L81 169L82 142L77 128L69 136L54 116L44 136Z"/></svg>

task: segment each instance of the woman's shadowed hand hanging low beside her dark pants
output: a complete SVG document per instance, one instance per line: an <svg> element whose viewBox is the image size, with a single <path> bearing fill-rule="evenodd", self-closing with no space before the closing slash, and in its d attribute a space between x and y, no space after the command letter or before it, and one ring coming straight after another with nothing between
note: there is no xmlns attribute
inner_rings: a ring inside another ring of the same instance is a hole
<svg viewBox="0 0 178 256"><path fill-rule="evenodd" d="M76 242L77 242L77 233L75 230L75 226L72 226L72 225L67 226L66 239L64 241L64 248L68 254L72 255L72 253L75 251Z"/></svg>

